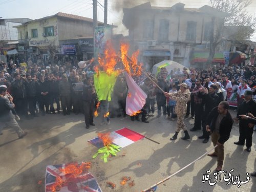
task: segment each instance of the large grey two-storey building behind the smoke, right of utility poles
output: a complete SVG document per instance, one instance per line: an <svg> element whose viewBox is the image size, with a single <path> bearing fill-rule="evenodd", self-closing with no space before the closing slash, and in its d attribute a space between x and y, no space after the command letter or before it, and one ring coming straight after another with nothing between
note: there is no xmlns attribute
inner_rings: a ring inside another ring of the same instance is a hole
<svg viewBox="0 0 256 192"><path fill-rule="evenodd" d="M123 24L129 29L131 47L140 49L148 69L164 59L190 66L198 47L205 52L209 46L212 19L216 33L217 26L224 24L227 16L209 6L199 9L184 6L178 3L172 7L152 7L145 3L123 9Z"/></svg>

